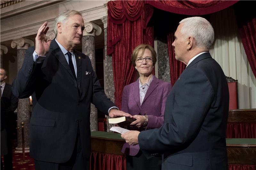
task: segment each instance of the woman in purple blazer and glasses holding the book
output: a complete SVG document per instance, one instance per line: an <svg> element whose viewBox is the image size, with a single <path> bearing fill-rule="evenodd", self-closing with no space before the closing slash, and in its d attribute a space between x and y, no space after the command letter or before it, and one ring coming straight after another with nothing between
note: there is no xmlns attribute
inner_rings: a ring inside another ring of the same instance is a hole
<svg viewBox="0 0 256 170"><path fill-rule="evenodd" d="M164 123L165 101L172 86L152 74L156 63L156 51L152 46L137 46L132 53L132 63L140 77L124 87L121 109L137 120L126 128L139 131L159 128ZM126 154L127 170L161 170L161 157L147 159L138 144L125 143L122 152Z"/></svg>

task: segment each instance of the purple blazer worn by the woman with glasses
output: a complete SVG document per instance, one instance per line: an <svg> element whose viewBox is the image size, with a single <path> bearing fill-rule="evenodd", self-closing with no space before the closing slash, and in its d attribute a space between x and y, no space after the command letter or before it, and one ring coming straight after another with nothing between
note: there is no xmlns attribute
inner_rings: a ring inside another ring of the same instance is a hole
<svg viewBox="0 0 256 170"><path fill-rule="evenodd" d="M159 128L164 123L164 108L167 95L171 91L170 83L159 80L153 75L153 80L140 106L139 78L136 82L126 85L123 90L121 110L131 115L148 115L147 129ZM143 130L144 130L143 129ZM137 129L135 129L137 130ZM122 152L135 156L140 151L139 145L124 144Z"/></svg>

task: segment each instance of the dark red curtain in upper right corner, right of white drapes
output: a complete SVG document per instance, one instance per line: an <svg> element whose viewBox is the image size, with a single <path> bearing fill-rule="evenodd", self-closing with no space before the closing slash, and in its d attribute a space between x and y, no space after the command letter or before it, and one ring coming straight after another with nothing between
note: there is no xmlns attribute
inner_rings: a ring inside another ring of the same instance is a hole
<svg viewBox="0 0 256 170"><path fill-rule="evenodd" d="M250 1L239 2L234 7L244 51L256 77L256 12L254 4Z"/></svg>

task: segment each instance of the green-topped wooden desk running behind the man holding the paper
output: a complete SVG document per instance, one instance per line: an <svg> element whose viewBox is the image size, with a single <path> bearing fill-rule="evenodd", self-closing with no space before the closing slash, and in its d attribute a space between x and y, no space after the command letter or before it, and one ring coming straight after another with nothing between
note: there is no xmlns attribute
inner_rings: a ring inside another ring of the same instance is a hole
<svg viewBox="0 0 256 170"><path fill-rule="evenodd" d="M228 164L256 164L255 138L227 138ZM92 151L124 155L121 149L124 139L112 132L92 132Z"/></svg>

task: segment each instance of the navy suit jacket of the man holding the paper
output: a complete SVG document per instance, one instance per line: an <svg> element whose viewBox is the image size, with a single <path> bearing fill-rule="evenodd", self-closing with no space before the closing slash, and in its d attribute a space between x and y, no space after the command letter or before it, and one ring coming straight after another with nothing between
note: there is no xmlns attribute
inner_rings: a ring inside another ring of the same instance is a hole
<svg viewBox="0 0 256 170"><path fill-rule="evenodd" d="M163 154L164 170L227 169L228 85L210 53L180 75L166 100L164 124L139 134L145 154Z"/></svg>

